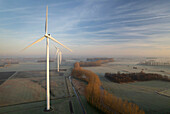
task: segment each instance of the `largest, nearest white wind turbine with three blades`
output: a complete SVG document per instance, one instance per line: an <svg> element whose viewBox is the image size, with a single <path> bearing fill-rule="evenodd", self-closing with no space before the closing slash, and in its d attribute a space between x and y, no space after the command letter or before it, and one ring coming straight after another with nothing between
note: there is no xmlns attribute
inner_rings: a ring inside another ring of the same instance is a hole
<svg viewBox="0 0 170 114"><path fill-rule="evenodd" d="M72 52L71 49L69 49L68 47L66 47L65 45L63 45L62 43L60 43L59 41L57 41L55 38L53 38L50 34L47 34L47 28L48 28L48 25L47 25L47 22L48 21L48 6L47 6L47 9L46 9L46 21L45 21L45 35L43 37L41 37L40 39L36 40L35 42L33 42L32 44L30 44L29 46L27 46L26 48L24 48L23 50L31 47L32 45L42 41L44 38L46 38L46 58L47 58L47 65L46 65L46 86L47 86L47 107L46 107L46 110L47 111L50 111L50 84L49 84L49 39L53 40L54 42L60 44L61 46L63 46L64 48L68 49L69 51Z"/></svg>

